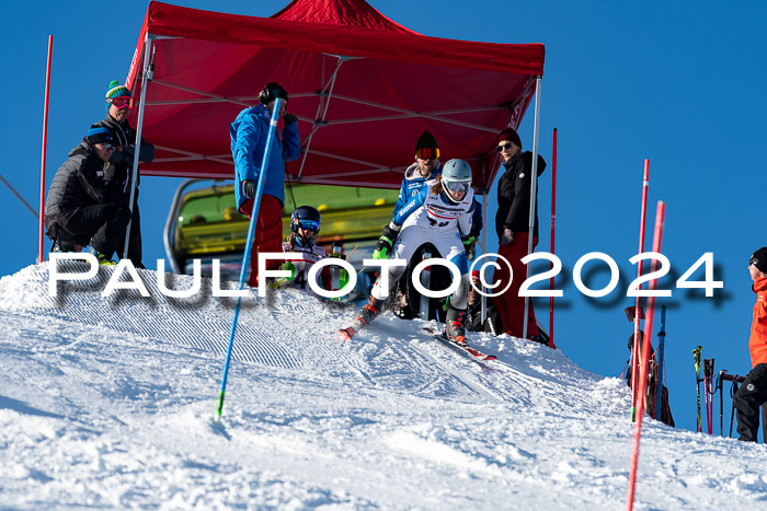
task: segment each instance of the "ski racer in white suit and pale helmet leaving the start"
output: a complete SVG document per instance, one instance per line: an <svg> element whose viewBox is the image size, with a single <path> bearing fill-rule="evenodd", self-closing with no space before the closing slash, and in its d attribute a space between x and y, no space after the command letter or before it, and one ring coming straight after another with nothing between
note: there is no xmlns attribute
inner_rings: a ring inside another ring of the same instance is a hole
<svg viewBox="0 0 767 511"><path fill-rule="evenodd" d="M461 275L458 289L450 295L446 335L450 340L466 344L465 322L469 288L469 267L461 234L471 231L471 217L474 210L471 189L471 167L463 160L450 160L443 167L442 175L426 182L426 185L400 208L392 221L384 228L373 257L410 260L415 249L424 242L431 242L444 257L455 264ZM353 332L369 324L384 309L393 282L404 272L397 266L388 270L388 282L379 277L373 287L368 303L357 317Z"/></svg>

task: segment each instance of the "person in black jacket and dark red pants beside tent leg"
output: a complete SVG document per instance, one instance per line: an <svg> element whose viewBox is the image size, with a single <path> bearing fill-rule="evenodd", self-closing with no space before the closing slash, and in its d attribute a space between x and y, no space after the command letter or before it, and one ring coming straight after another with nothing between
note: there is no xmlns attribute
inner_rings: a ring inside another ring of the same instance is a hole
<svg viewBox="0 0 767 511"><path fill-rule="evenodd" d="M525 326L525 298L519 297L519 287L527 275L527 267L522 258L527 255L530 214L530 179L533 178L533 153L522 152L522 140L515 130L506 128L496 138L496 150L503 159L504 174L497 184L497 212L495 213L495 232L499 236L499 255L512 266L513 277L505 264L500 264L495 281L499 289L512 283L508 289L493 298L501 314L501 323L506 334L522 337ZM546 161L538 155L538 175L543 173ZM536 201L535 223L533 228L533 247L538 244L538 204ZM533 302L527 315L528 338L546 344L538 330Z"/></svg>

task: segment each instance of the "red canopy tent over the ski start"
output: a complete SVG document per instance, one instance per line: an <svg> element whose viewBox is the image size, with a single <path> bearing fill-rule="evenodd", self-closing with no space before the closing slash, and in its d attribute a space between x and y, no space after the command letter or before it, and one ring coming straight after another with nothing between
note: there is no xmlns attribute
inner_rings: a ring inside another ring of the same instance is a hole
<svg viewBox="0 0 767 511"><path fill-rule="evenodd" d="M233 178L229 124L276 81L299 119L290 181L397 188L427 129L486 193L495 135L519 125L542 73L541 44L428 37L364 0L294 0L272 18L152 1L126 83L157 149L144 175Z"/></svg>

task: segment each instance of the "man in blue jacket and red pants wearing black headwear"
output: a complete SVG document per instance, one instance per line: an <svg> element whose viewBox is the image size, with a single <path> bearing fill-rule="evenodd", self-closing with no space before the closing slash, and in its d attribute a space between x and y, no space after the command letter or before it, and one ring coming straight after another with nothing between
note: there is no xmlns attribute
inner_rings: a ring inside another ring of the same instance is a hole
<svg viewBox="0 0 767 511"><path fill-rule="evenodd" d="M283 128L281 130L277 126L275 136L272 138L266 169L261 169L270 119L277 97L282 100L279 116L283 118ZM286 114L287 91L277 83L270 82L259 95L259 102L261 103L259 106L240 112L229 127L237 179L234 187L237 209L249 218L253 210L259 175L261 172L266 172L251 251L251 272L248 280L250 287L259 286L259 253L283 251L282 211L285 204L285 162L296 160L300 155L298 119L295 115ZM270 262L267 268L276 269L278 266L278 260Z"/></svg>

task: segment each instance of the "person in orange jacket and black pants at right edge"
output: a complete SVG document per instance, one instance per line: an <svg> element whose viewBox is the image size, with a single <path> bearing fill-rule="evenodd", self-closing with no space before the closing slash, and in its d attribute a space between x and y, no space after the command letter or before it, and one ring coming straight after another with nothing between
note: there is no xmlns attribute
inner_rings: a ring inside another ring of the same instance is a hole
<svg viewBox="0 0 767 511"><path fill-rule="evenodd" d="M735 393L734 405L737 410L737 432L740 440L756 442L759 429L759 406L767 402L767 246L763 246L751 256L748 272L754 281L752 289L756 293L754 320L751 324L748 351L752 370L743 385ZM767 426L767 408L762 409L763 430ZM764 431L763 431L764 432ZM764 432L767 443L767 432Z"/></svg>

